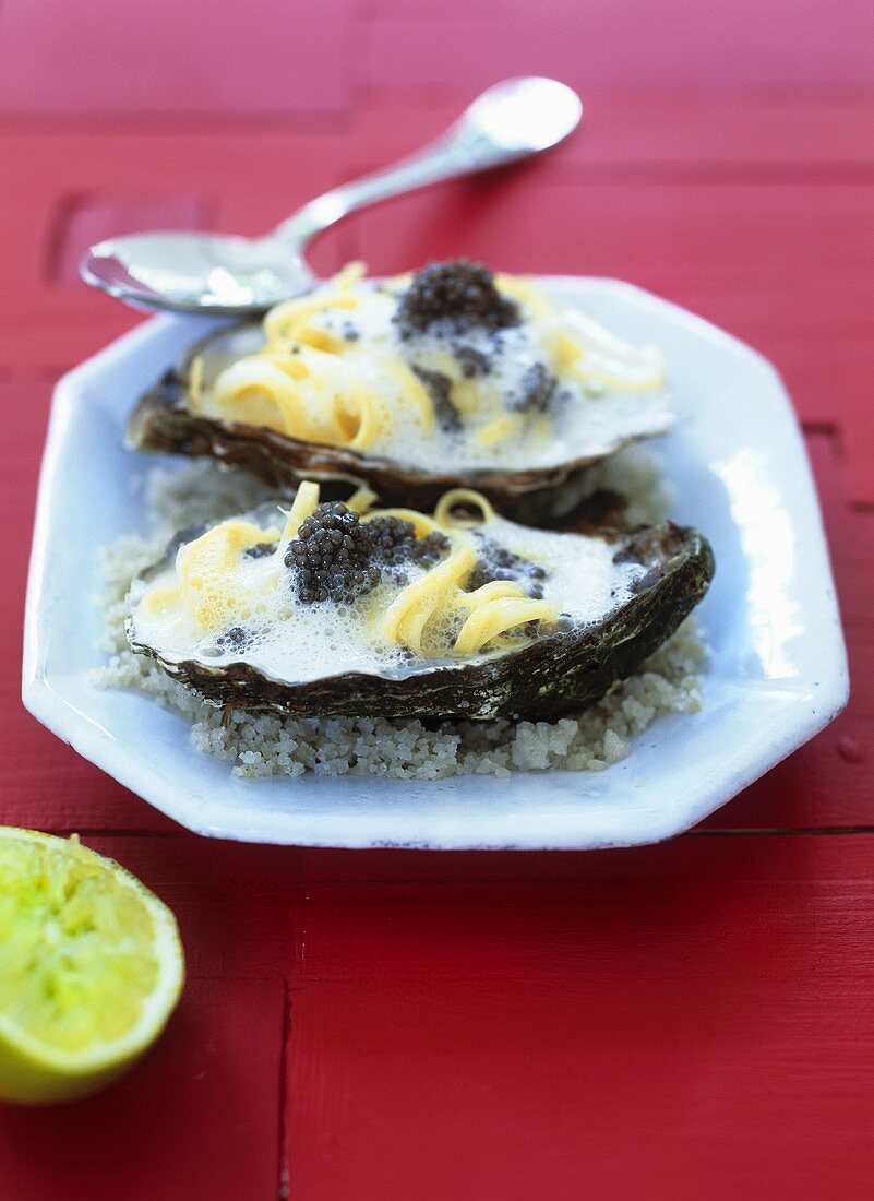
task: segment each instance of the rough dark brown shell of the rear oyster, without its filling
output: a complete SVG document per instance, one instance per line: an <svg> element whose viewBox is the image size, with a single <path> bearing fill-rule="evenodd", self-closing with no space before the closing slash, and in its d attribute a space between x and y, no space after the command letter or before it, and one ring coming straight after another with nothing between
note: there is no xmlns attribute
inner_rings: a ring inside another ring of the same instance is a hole
<svg viewBox="0 0 874 1201"><path fill-rule="evenodd" d="M229 339L257 342L257 331L252 323L234 325L193 346L179 366L167 371L139 400L128 422L127 444L134 450L212 455L228 467L241 467L282 489L294 489L301 479L340 485L331 492L323 490L324 496L348 496L360 484L369 484L384 504L403 504L423 512L430 512L450 488L473 488L487 496L504 516L528 525L547 524L570 513L589 491L588 468L605 458L581 456L525 471L425 471L394 459L299 442L273 430L226 425L192 413L186 398L193 358L210 353L221 357L220 347ZM617 436L610 453L634 441L635 437Z"/></svg>

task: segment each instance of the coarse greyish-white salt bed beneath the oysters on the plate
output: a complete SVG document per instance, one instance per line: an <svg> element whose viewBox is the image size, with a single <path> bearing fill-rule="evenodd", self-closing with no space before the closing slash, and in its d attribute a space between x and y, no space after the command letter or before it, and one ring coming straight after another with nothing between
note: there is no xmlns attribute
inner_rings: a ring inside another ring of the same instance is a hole
<svg viewBox="0 0 874 1201"><path fill-rule="evenodd" d="M592 490L610 489L628 501L627 520L636 525L664 520L670 490L649 449L630 447L593 468ZM106 688L137 688L191 721L197 749L231 764L234 776L325 775L394 776L441 779L457 775L511 771L598 771L633 749L635 735L664 713L693 713L701 707L700 673L706 646L694 617L623 683L617 683L585 712L546 722L447 721L425 725L414 718L293 718L274 713L229 715L204 704L170 680L145 656L127 646L127 590L133 576L155 562L180 528L243 513L275 497L239 473L222 472L211 460L155 467L144 478L144 509L152 532L126 534L102 552L104 592L100 598L104 631L100 649L106 665L92 680Z"/></svg>

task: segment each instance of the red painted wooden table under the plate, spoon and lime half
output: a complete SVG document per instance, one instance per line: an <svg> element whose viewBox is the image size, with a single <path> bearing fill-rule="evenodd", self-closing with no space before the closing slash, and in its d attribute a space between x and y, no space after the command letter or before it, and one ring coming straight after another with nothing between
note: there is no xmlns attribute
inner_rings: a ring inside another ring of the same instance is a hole
<svg viewBox="0 0 874 1201"><path fill-rule="evenodd" d="M660 847L190 836L18 701L52 386L137 319L78 285L78 255L137 227L259 232L532 71L583 94L570 145L363 215L319 265L615 275L768 354L822 495L850 706ZM870 0L2 0L0 181L0 821L115 855L188 958L138 1070L0 1112L0 1201L870 1196Z"/></svg>

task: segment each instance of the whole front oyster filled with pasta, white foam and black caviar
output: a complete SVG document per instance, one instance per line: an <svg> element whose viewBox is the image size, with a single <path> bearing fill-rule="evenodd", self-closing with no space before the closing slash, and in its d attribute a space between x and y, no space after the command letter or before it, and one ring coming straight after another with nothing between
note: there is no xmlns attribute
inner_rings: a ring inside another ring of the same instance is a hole
<svg viewBox="0 0 874 1201"><path fill-rule="evenodd" d="M366 489L265 506L174 540L130 594L128 640L211 705L293 716L550 717L670 637L713 556L671 524L555 533L460 490L433 515Z"/></svg>

